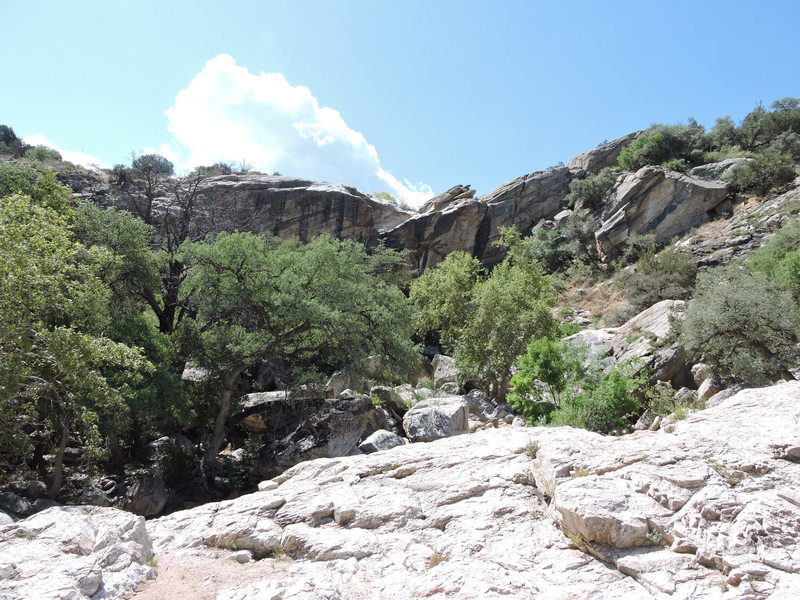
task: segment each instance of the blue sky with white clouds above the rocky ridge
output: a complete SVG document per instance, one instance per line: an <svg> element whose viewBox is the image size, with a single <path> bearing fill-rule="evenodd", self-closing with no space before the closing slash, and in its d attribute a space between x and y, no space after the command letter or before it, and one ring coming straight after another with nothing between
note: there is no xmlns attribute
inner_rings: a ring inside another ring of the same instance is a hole
<svg viewBox="0 0 800 600"><path fill-rule="evenodd" d="M796 0L0 0L0 123L109 165L483 194L652 122L800 96L798 23Z"/></svg>

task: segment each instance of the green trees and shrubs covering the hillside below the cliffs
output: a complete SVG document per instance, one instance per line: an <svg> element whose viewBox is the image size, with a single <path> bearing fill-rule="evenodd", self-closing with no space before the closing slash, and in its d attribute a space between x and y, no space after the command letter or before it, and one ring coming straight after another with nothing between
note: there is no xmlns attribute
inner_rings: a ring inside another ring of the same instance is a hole
<svg viewBox="0 0 800 600"><path fill-rule="evenodd" d="M110 190L113 202L100 205L59 182L73 165L8 126L0 157L0 470L46 480L51 498L63 497L69 465L142 464L148 442L163 436L173 442L155 472L168 483L246 488L258 461L220 458L226 446L257 457L269 443L237 425L245 394L324 398L337 372L367 389L416 382L430 372L423 346L453 355L462 389L497 404L508 397L531 423L610 432L645 410L673 412L674 390L642 365L598 370L565 341L586 325L565 306L578 303L577 289L584 299L613 289L624 299L618 323L686 300L669 342L723 387L790 378L797 366L796 202L781 205L781 226L762 248L719 266L652 236L631 235L614 255L595 239L626 171L749 159L724 175L738 194L734 214L789 189L797 99L757 107L738 125L718 119L711 131L654 125L615 166L571 181L571 213L557 226L526 237L504 230L494 268L454 252L413 281L404 250L258 235L234 203L204 206L204 182L229 175L228 165L176 177L166 158L140 155L101 175L84 171ZM611 321L610 308L591 316Z"/></svg>

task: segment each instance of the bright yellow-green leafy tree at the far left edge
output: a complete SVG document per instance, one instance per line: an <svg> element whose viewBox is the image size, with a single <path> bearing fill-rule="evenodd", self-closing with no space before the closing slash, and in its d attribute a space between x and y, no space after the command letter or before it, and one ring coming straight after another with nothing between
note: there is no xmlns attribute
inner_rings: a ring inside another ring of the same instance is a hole
<svg viewBox="0 0 800 600"><path fill-rule="evenodd" d="M0 199L0 443L4 456L24 458L32 449L20 426L46 424L51 497L70 436L98 448L97 436L124 412L128 382L150 368L138 350L105 337L110 290L98 272L110 257L76 243L72 211L53 203Z"/></svg>

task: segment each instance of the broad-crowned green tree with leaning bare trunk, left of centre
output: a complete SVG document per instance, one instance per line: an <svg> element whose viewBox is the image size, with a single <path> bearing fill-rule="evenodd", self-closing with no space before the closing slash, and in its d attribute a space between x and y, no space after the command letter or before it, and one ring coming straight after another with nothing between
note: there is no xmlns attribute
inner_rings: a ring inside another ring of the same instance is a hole
<svg viewBox="0 0 800 600"><path fill-rule="evenodd" d="M321 236L264 239L220 234L187 244L184 293L196 322L186 324L189 356L219 381L206 460L213 464L227 434L239 377L251 364L291 365L295 384L336 369L358 371L368 356L398 373L418 359L410 341L411 310L400 290L371 274L363 246Z"/></svg>

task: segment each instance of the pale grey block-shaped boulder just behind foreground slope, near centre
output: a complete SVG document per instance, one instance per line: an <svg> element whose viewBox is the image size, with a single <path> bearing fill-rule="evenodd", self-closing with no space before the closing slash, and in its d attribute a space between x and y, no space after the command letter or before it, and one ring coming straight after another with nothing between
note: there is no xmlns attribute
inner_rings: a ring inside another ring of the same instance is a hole
<svg viewBox="0 0 800 600"><path fill-rule="evenodd" d="M403 429L412 442L431 442L468 431L469 404L462 396L428 398L403 417Z"/></svg>

